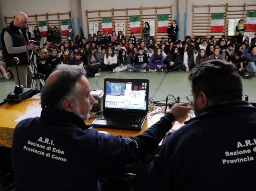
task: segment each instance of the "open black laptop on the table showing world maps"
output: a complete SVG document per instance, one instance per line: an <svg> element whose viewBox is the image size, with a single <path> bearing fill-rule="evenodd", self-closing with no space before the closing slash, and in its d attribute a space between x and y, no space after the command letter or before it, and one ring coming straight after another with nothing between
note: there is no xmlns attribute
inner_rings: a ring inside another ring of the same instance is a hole
<svg viewBox="0 0 256 191"><path fill-rule="evenodd" d="M140 131L148 112L149 80L105 79L103 112L93 127Z"/></svg>

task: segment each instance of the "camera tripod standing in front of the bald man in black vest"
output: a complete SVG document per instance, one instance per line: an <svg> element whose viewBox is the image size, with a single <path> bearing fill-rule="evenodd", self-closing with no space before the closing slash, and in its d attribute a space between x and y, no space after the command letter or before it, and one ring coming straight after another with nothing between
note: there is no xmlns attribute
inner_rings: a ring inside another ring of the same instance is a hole
<svg viewBox="0 0 256 191"><path fill-rule="evenodd" d="M34 77L32 78L32 84L31 84L31 88L33 90L40 90L41 89L41 84L42 86L44 86L44 75L38 73L38 69L37 69L37 65L36 65L36 53L35 51L32 51L31 56L30 56L30 61L32 61L32 55L34 58Z"/></svg>

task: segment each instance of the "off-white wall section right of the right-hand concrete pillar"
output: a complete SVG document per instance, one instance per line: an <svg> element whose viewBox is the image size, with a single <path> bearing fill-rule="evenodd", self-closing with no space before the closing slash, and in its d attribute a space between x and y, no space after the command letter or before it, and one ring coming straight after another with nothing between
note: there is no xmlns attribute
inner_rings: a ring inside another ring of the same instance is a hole
<svg viewBox="0 0 256 191"><path fill-rule="evenodd" d="M226 4L229 5L241 5L244 4L244 1L241 0L204 0L204 1L198 1L198 0L187 0L187 35L192 36L192 22L193 22L193 4L194 5L218 5L218 4ZM246 4L255 4L255 0L246 0ZM215 8L218 9L218 8ZM225 11L224 11L225 12Z"/></svg>

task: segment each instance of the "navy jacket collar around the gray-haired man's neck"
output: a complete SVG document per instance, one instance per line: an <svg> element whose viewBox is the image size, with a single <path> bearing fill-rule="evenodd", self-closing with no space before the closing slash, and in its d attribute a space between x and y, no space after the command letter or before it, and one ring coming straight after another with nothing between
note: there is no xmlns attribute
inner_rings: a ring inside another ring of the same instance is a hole
<svg viewBox="0 0 256 191"><path fill-rule="evenodd" d="M91 127L90 125L86 125L82 118L76 114L64 110L54 112L48 108L43 108L40 120L46 124L58 127L79 127L82 130Z"/></svg>

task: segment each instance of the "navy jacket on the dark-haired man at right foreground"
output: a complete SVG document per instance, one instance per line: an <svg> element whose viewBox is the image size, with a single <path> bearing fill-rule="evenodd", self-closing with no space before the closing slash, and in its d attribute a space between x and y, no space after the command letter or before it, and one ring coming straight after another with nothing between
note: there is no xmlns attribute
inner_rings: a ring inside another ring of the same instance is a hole
<svg viewBox="0 0 256 191"><path fill-rule="evenodd" d="M134 191L256 190L256 108L210 106L185 122L134 181Z"/></svg>

